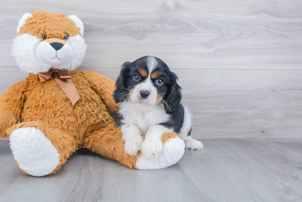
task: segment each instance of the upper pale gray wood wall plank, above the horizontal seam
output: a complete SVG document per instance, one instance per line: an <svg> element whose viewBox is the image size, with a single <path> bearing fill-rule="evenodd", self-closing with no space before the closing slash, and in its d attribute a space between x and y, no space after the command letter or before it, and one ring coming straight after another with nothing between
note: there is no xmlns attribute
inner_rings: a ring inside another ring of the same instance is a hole
<svg viewBox="0 0 302 202"><path fill-rule="evenodd" d="M76 14L85 27L83 67L119 67L141 56L172 68L299 69L302 1L23 1L0 8L0 66L14 67L12 38L22 14Z"/></svg>

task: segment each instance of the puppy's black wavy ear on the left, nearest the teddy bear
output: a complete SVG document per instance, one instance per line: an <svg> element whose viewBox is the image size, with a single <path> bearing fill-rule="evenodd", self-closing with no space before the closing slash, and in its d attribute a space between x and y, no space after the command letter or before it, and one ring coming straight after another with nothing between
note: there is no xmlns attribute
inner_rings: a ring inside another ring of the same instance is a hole
<svg viewBox="0 0 302 202"><path fill-rule="evenodd" d="M126 99L126 89L127 89L127 72L129 72L129 68L131 66L131 62L125 62L120 70L120 75L117 77L115 82L115 90L112 94L113 99L116 103L122 102Z"/></svg>

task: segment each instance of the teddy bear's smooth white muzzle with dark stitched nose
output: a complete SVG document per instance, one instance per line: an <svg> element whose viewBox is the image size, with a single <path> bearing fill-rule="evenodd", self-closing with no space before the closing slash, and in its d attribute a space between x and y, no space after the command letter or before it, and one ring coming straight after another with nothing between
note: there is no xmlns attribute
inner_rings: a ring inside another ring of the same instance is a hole
<svg viewBox="0 0 302 202"><path fill-rule="evenodd" d="M62 39L46 39L42 41L36 50L37 58L47 64L66 64L73 58L71 46Z"/></svg>

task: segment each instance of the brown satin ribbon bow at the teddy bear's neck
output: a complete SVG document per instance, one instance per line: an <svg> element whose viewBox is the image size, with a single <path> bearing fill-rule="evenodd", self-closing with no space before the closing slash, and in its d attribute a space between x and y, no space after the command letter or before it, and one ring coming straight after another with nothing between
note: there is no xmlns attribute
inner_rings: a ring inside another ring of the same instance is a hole
<svg viewBox="0 0 302 202"><path fill-rule="evenodd" d="M80 99L80 95L76 90L75 85L72 83L71 75L62 70L54 69L48 72L38 73L37 80L43 82L49 79L51 76L59 84L66 96L70 99L72 105L76 104L76 102Z"/></svg>

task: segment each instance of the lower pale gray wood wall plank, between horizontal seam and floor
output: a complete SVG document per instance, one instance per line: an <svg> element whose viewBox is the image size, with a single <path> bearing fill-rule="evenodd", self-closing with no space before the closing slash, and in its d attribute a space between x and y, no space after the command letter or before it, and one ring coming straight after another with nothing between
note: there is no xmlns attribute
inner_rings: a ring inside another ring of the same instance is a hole
<svg viewBox="0 0 302 202"><path fill-rule="evenodd" d="M119 73L119 68L80 69L113 80ZM24 79L18 68L0 70L7 72L0 75L0 93ZM172 70L183 88L182 102L193 113L192 137L302 138L302 71Z"/></svg>

